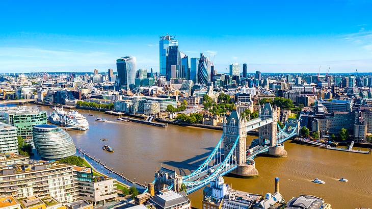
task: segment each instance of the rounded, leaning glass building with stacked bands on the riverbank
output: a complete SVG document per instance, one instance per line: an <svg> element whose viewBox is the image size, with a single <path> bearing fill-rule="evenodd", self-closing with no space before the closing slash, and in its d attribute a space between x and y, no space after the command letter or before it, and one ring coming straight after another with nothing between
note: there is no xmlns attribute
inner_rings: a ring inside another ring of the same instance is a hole
<svg viewBox="0 0 372 209"><path fill-rule="evenodd" d="M43 159L58 160L76 153L76 146L70 135L56 125L34 126L33 137L36 150Z"/></svg>

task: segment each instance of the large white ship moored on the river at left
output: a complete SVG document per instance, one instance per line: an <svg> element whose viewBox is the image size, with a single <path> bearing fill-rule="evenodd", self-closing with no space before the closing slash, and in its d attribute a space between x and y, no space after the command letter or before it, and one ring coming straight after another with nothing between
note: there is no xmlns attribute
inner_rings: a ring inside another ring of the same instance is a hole
<svg viewBox="0 0 372 209"><path fill-rule="evenodd" d="M66 127L76 127L78 130L87 130L89 129L89 123L87 119L79 114L77 111L66 112L63 109L57 109L54 112L51 112L49 117L51 123L57 125L64 125Z"/></svg>

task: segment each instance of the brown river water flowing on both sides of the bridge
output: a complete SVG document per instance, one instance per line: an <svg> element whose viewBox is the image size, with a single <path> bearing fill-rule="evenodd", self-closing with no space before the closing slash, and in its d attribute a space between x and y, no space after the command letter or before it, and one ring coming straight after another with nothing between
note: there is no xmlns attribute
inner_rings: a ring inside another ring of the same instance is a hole
<svg viewBox="0 0 372 209"><path fill-rule="evenodd" d="M39 107L48 113L48 107ZM215 147L222 132L194 127L168 125L154 127L116 120L116 116L79 110L89 121L87 131L70 130L76 146L86 150L108 167L141 183L153 180L162 165L177 173L190 173ZM88 116L88 114L95 116ZM108 122L94 121L105 118ZM106 138L108 141L101 141ZM256 136L247 137L247 145ZM101 149L112 146L114 153ZM256 178L224 177L233 189L264 195L274 192L274 178L280 178L280 193L285 200L300 194L324 198L333 208L372 207L372 155L327 150L287 141L287 158L259 156L255 159ZM326 184L311 182L318 177ZM349 179L340 182L339 178ZM192 206L202 208L202 189L189 195Z"/></svg>

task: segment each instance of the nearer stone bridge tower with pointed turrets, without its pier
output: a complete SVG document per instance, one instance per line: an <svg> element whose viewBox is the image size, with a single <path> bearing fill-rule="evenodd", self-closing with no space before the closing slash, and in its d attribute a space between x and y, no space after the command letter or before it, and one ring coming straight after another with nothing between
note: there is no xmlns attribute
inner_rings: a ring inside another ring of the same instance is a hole
<svg viewBox="0 0 372 209"><path fill-rule="evenodd" d="M236 152L234 151L233 156L236 157L238 165L246 163L246 147L247 147L247 131L246 131L246 119L240 116L240 114L233 110L226 123L224 123L224 153L225 156L230 152L231 147L234 145L235 139L238 137L239 141L236 144ZM236 155L235 155L236 154Z"/></svg>

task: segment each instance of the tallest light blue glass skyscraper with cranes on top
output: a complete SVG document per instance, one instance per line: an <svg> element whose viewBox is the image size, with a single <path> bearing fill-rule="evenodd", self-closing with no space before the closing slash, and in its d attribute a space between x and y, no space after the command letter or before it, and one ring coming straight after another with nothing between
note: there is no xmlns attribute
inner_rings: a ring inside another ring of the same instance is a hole
<svg viewBox="0 0 372 209"><path fill-rule="evenodd" d="M173 36L169 36L168 34L165 36L161 36L159 40L159 57L160 57L160 74L166 75L167 74L167 56L169 46L178 46L178 41L174 39Z"/></svg>

